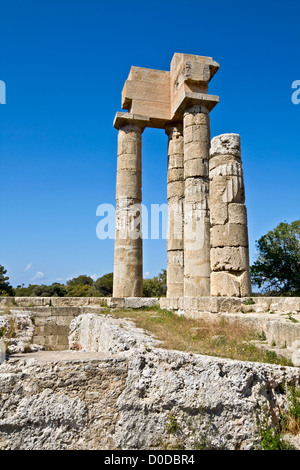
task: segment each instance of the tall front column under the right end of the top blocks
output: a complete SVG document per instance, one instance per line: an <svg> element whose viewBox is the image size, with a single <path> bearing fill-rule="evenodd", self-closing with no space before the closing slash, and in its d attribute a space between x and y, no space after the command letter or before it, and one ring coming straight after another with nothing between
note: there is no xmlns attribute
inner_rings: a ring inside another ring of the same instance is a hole
<svg viewBox="0 0 300 470"><path fill-rule="evenodd" d="M184 135L184 296L210 295L209 110L185 109Z"/></svg>

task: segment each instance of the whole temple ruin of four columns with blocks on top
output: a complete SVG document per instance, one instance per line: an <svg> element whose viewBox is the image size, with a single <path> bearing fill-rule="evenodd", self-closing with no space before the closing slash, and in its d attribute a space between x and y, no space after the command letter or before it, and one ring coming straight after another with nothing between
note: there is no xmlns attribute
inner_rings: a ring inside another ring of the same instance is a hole
<svg viewBox="0 0 300 470"><path fill-rule="evenodd" d="M131 67L118 129L113 297L142 297L142 133L168 136L167 297L251 294L247 212L238 134L210 137L219 97L211 57L174 54L170 71Z"/></svg>

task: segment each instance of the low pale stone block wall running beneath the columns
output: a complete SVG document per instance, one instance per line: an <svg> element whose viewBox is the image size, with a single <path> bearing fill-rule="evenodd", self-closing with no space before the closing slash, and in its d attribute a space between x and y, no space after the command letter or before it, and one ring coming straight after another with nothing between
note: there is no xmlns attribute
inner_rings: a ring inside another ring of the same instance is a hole
<svg viewBox="0 0 300 470"><path fill-rule="evenodd" d="M232 321L246 321L263 330L269 343L292 346L300 340L298 297L253 297L253 303L248 302L249 299L236 297L0 297L0 315L27 312L34 323L31 343L48 350L68 349L70 324L81 314L100 313L107 308L151 306L194 319L218 315Z"/></svg>

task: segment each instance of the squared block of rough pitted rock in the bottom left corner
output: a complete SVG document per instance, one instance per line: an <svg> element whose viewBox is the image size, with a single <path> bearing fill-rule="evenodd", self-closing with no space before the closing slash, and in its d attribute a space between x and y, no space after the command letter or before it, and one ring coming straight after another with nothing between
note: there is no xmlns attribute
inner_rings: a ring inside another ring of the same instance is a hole
<svg viewBox="0 0 300 470"><path fill-rule="evenodd" d="M123 359L10 359L0 366L0 448L115 449L126 377Z"/></svg>

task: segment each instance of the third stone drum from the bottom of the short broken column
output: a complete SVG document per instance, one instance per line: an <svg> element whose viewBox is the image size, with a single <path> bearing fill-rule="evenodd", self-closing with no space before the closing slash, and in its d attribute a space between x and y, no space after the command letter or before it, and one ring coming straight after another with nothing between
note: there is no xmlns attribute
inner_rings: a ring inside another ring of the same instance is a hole
<svg viewBox="0 0 300 470"><path fill-rule="evenodd" d="M245 225L229 223L226 225L215 225L211 227L210 235L212 248L230 246L248 247L248 231Z"/></svg>

